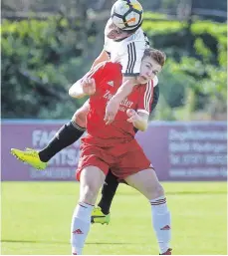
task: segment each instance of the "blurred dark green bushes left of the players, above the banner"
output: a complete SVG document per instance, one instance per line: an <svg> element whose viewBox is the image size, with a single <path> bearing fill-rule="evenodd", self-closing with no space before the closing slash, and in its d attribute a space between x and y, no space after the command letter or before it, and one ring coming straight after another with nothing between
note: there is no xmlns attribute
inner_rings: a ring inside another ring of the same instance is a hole
<svg viewBox="0 0 228 256"><path fill-rule="evenodd" d="M76 43L77 26L59 16L3 20L3 118L68 118L81 106L68 96L69 86L90 65Z"/></svg>

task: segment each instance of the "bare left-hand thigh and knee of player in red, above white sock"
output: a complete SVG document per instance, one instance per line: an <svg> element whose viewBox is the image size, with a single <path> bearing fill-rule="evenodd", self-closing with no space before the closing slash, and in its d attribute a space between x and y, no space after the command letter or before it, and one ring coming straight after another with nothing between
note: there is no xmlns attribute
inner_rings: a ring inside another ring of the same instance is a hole
<svg viewBox="0 0 228 256"><path fill-rule="evenodd" d="M95 204L105 178L105 173L99 167L85 167L80 175L80 201Z"/></svg>

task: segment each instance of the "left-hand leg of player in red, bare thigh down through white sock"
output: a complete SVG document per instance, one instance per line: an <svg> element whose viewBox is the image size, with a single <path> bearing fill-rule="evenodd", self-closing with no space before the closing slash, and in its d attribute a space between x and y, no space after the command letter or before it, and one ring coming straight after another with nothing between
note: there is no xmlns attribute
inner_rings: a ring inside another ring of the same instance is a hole
<svg viewBox="0 0 228 256"><path fill-rule="evenodd" d="M96 166L85 167L80 175L80 199L71 225L71 244L73 254L82 254L91 227L91 214L100 188L106 175Z"/></svg>

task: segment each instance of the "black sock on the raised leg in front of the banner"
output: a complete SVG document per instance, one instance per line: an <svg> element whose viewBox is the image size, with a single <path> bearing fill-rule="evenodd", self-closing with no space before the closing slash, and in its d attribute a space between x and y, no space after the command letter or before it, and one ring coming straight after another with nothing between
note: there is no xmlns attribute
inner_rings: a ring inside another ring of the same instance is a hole
<svg viewBox="0 0 228 256"><path fill-rule="evenodd" d="M63 148L77 141L86 129L79 127L74 121L69 122L60 128L48 145L39 151L40 159L49 161L56 153Z"/></svg>

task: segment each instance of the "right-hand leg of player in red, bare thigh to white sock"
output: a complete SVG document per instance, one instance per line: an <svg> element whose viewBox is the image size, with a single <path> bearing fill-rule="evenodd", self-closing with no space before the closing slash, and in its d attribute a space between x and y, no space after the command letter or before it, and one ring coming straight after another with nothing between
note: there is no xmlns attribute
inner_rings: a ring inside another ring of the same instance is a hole
<svg viewBox="0 0 228 256"><path fill-rule="evenodd" d="M125 178L128 185L142 193L151 205L152 225L156 234L160 254L171 254L171 217L164 189L152 168L145 169Z"/></svg>

